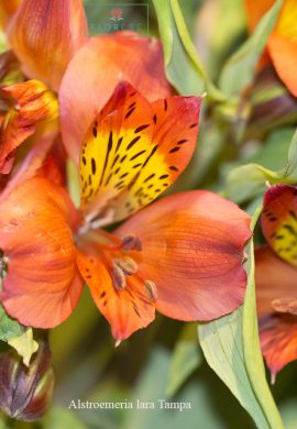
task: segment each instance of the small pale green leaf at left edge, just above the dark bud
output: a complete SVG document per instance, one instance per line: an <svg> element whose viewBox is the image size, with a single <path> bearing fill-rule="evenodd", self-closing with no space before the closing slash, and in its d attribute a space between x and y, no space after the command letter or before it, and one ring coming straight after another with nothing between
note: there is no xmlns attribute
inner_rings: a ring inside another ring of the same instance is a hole
<svg viewBox="0 0 297 429"><path fill-rule="evenodd" d="M0 306L0 340L15 349L26 366L32 354L38 349L32 329L24 328L16 320L11 319L2 306Z"/></svg>

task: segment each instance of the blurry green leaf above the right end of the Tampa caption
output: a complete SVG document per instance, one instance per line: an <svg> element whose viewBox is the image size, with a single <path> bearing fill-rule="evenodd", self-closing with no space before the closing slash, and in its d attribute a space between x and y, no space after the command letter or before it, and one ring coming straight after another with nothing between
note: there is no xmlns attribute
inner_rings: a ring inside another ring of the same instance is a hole
<svg viewBox="0 0 297 429"><path fill-rule="evenodd" d="M188 323L183 329L173 353L166 395L174 396L201 361L196 323Z"/></svg>

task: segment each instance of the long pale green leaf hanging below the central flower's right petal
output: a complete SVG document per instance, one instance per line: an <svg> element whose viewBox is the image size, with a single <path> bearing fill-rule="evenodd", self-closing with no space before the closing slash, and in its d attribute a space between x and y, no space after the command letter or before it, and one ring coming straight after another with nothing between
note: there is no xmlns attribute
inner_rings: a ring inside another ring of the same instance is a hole
<svg viewBox="0 0 297 429"><path fill-rule="evenodd" d="M253 230L262 207L252 218ZM227 384L261 429L283 429L283 422L265 376L258 341L254 248L249 244L248 287L244 305L231 315L200 324L199 339L206 360Z"/></svg>

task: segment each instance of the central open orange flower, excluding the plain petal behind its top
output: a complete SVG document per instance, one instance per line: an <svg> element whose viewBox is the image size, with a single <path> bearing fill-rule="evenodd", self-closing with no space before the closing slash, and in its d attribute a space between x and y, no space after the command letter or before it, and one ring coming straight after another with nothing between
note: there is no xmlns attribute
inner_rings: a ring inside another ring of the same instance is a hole
<svg viewBox="0 0 297 429"><path fill-rule="evenodd" d="M204 190L182 193L113 233L102 229L152 202L184 170L200 102L169 97L150 103L120 84L84 140L79 223L63 189L52 190L42 178L0 201L1 298L12 317L38 328L62 322L81 293L76 264L117 341L146 327L155 310L210 320L242 304L251 231L249 216L233 202Z"/></svg>

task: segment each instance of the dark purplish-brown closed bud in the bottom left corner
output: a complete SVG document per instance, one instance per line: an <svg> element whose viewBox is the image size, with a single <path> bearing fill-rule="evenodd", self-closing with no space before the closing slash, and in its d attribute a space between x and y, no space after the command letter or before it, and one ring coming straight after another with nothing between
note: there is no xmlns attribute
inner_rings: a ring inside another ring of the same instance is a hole
<svg viewBox="0 0 297 429"><path fill-rule="evenodd" d="M54 387L48 343L40 341L26 367L13 350L0 354L0 409L9 417L33 421L47 409Z"/></svg>

